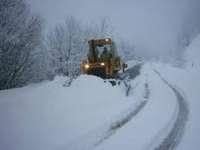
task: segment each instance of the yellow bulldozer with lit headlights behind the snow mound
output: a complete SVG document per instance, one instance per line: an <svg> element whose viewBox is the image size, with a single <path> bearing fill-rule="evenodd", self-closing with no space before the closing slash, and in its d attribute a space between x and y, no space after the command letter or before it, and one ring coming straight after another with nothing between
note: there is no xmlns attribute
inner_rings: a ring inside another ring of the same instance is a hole
<svg viewBox="0 0 200 150"><path fill-rule="evenodd" d="M88 41L87 59L81 63L81 73L96 75L101 78L116 78L120 70L127 65L117 54L115 43L110 38L91 39Z"/></svg>

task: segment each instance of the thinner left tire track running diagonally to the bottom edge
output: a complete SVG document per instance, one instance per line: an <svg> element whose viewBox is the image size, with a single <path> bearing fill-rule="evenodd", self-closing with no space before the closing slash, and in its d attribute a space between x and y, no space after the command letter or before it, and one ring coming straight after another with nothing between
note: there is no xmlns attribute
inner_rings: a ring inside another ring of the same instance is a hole
<svg viewBox="0 0 200 150"><path fill-rule="evenodd" d="M145 98L144 98L145 99ZM92 150L95 147L102 144L113 136L120 128L125 126L131 119L133 119L146 105L147 100L138 102L133 106L127 108L124 112L119 114L117 120L113 120L111 123L105 124L102 127L96 128L86 135L76 139L76 141L69 143L67 147L61 150Z"/></svg>

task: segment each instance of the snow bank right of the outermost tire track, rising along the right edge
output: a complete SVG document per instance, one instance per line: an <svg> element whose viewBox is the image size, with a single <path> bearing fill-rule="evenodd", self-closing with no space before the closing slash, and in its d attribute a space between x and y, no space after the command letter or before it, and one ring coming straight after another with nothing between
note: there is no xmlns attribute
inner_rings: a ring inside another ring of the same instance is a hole
<svg viewBox="0 0 200 150"><path fill-rule="evenodd" d="M186 68L175 68L170 65L153 64L161 74L171 83L183 90L190 108L189 120L183 140L178 150L200 148L200 35L197 36L187 48L185 58Z"/></svg>

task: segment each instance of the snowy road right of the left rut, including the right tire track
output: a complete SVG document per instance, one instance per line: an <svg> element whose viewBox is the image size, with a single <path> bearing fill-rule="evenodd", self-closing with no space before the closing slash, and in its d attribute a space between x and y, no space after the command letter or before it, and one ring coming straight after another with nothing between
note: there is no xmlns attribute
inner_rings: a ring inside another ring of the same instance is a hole
<svg viewBox="0 0 200 150"><path fill-rule="evenodd" d="M167 82L158 71L154 71L148 65L145 65L144 68L145 71L143 71L141 75L149 76L148 80L151 80L149 81L151 84L151 88L149 89L151 96L148 100L149 104L147 103L147 106L145 106L146 110L141 110L137 116L134 116L135 118L133 118L132 121L128 122L127 125L117 131L118 133L116 133L116 135L113 135L110 140L99 145L99 147L96 148L97 150L122 149L125 145L126 149L172 150L179 144L184 133L184 127L189 113L186 100L178 88L175 88ZM129 73L131 73L131 71L129 71ZM158 96L158 93L153 93L155 88L152 88L152 85L155 84L155 81L157 82L157 89L160 88L160 90L157 91L163 93L159 99L158 97L152 99L153 94ZM166 94L169 91L170 95ZM157 106L157 100L159 100L159 103L162 102L159 106ZM152 103L152 101L156 103ZM167 105L169 107L166 109ZM154 111L149 111L149 109L154 109ZM156 110L157 112L155 112ZM147 120L149 120L147 116L153 116L155 115L154 113L159 114L162 118L160 118L160 120L158 118L152 118L150 120L151 122L147 123ZM168 115L166 115L166 113L168 113ZM137 126L138 122L141 122L141 126ZM142 124L142 122L146 123ZM144 130L146 129L149 130L145 133ZM155 131L151 132L150 130ZM133 135L130 135L130 132ZM149 140L147 140L147 137ZM132 139L132 141L130 141L130 139Z"/></svg>

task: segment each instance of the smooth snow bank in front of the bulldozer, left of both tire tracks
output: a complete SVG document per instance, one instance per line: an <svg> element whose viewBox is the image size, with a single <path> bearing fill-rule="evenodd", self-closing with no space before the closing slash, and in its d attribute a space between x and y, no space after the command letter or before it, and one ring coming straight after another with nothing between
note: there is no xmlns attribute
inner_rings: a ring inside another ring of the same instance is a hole
<svg viewBox="0 0 200 150"><path fill-rule="evenodd" d="M81 75L70 87L66 80L0 91L0 149L68 149L140 100L98 77Z"/></svg>

